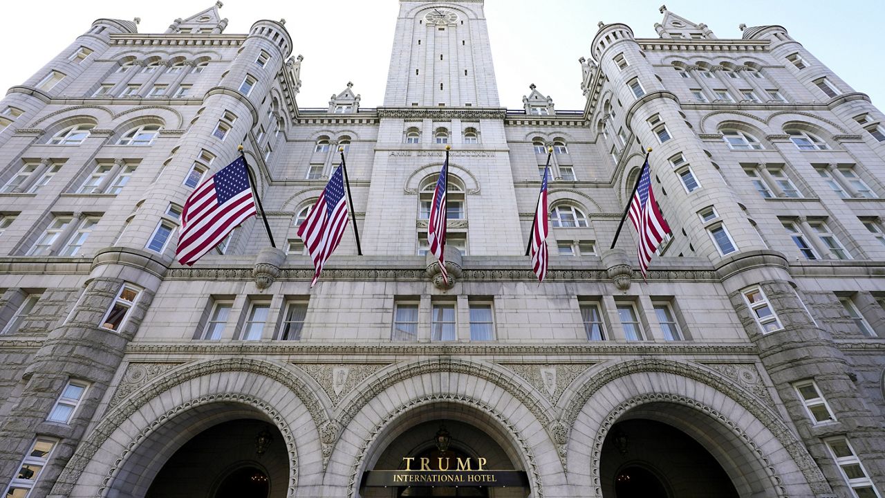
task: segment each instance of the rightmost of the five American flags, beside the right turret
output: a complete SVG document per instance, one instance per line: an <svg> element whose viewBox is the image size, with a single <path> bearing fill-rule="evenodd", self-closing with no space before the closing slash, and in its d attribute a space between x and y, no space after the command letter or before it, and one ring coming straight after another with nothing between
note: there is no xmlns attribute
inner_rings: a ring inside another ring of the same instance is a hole
<svg viewBox="0 0 885 498"><path fill-rule="evenodd" d="M640 175L639 186L635 196L630 202L630 222L639 234L639 268L643 271L643 278L649 269L651 255L658 250L658 245L664 237L671 233L670 226L666 224L664 215L658 209L658 201L655 200L655 192L651 190L651 167L648 157L643 164L643 172Z"/></svg>

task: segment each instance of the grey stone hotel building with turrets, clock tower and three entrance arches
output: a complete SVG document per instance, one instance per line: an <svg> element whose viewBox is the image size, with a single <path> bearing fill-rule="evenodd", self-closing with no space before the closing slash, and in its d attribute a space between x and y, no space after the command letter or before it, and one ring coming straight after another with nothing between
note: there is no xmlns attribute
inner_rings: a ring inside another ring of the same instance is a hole
<svg viewBox="0 0 885 498"><path fill-rule="evenodd" d="M600 23L584 109L508 110L482 0L401 0L383 105L316 109L284 22L219 6L98 19L0 103L7 497L885 493L885 116L787 29ZM280 249L252 219L182 267L181 206L241 143ZM349 229L311 289L339 147L364 255ZM673 237L643 282L634 232L608 245L647 147ZM524 481L366 480L435 455Z"/></svg>

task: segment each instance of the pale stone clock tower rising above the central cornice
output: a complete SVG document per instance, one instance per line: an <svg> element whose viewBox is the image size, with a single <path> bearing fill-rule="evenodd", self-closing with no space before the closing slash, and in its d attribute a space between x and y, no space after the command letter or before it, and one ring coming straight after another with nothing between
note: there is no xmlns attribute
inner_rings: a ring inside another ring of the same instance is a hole
<svg viewBox="0 0 885 498"><path fill-rule="evenodd" d="M387 107L497 107L482 0L401 0Z"/></svg>

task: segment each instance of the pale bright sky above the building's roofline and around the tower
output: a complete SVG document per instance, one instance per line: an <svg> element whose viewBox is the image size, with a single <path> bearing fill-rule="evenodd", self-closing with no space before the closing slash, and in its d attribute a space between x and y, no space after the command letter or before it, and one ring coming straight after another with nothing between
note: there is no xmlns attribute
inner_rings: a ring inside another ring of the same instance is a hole
<svg viewBox="0 0 885 498"><path fill-rule="evenodd" d="M637 37L657 36L664 0L486 0L492 53L502 105L521 108L528 85L553 97L557 108L583 109L581 66L589 57L596 23L623 22ZM226 0L220 13L227 33L246 33L258 19L286 19L294 55L304 55L302 107L324 107L354 82L362 105L381 105L398 10L396 0ZM98 18L142 19L142 33L163 33L212 0L69 0L4 2L0 34L7 50L0 89L19 84L64 51ZM885 69L877 36L885 21L882 0L671 0L667 7L704 22L720 38L740 38L737 25L780 24L854 89L885 101Z"/></svg>

